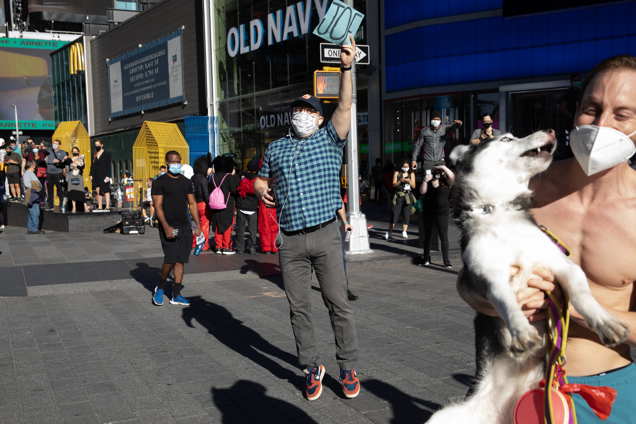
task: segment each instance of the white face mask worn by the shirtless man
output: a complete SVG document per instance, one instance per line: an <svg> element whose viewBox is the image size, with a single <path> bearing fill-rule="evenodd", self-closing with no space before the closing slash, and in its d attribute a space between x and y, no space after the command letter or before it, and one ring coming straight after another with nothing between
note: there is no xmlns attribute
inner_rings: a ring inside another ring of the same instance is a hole
<svg viewBox="0 0 636 424"><path fill-rule="evenodd" d="M575 117L576 120L576 117ZM636 145L630 135L609 127L581 125L570 133L570 146L576 160L586 175L615 167L636 153Z"/></svg>

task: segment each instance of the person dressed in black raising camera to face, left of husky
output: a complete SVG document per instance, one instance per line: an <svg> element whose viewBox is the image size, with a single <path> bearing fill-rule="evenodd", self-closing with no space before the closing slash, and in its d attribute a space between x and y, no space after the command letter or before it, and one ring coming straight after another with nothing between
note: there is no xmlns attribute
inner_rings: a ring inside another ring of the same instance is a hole
<svg viewBox="0 0 636 424"><path fill-rule="evenodd" d="M428 172L424 177L424 182L420 186L420 193L426 195L424 198L424 209L422 209L422 219L424 220L424 257L420 265L431 263L431 243L433 228L438 229L439 240L441 241L441 256L444 260L444 268L453 268L453 264L448 259L448 220L450 215L450 205L448 196L450 188L455 182L455 174L445 165L438 165Z"/></svg>

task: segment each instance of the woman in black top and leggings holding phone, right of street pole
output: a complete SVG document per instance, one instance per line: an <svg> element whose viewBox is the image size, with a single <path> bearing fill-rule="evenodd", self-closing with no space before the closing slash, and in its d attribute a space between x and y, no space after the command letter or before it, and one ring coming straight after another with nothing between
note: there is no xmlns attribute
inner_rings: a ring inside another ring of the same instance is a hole
<svg viewBox="0 0 636 424"><path fill-rule="evenodd" d="M408 158L404 158L401 168L393 173L393 191L389 200L391 205L391 221L389 221L389 231L384 238L393 238L393 227L397 224L399 215L402 214L402 238L408 238L408 220L411 217L411 208L415 205L415 196L411 189L415 187L415 172L408 164Z"/></svg>

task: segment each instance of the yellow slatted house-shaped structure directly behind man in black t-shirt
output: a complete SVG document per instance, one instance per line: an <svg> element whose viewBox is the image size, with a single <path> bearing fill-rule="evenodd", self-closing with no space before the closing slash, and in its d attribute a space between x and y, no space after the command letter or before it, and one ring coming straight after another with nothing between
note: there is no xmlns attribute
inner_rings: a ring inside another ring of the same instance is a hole
<svg viewBox="0 0 636 424"><path fill-rule="evenodd" d="M159 174L159 167L165 165L165 154L174 150L181 154L185 165L190 158L190 147L183 138L177 124L144 121L137 140L132 146L133 172L135 180L146 181ZM145 187L145 185L143 185Z"/></svg>

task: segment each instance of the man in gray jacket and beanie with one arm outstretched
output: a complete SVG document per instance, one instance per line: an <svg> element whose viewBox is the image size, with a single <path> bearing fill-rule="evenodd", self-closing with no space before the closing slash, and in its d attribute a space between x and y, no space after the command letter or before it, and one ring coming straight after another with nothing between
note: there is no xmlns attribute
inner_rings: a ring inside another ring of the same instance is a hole
<svg viewBox="0 0 636 424"><path fill-rule="evenodd" d="M432 111L431 125L422 128L420 137L413 146L413 157L411 167L417 169L417 157L420 156L422 146L424 146L424 169L432 169L435 165L446 165L444 161L444 146L446 144L446 134L457 130L462 126L462 121L455 120L450 125L441 125L441 113Z"/></svg>

